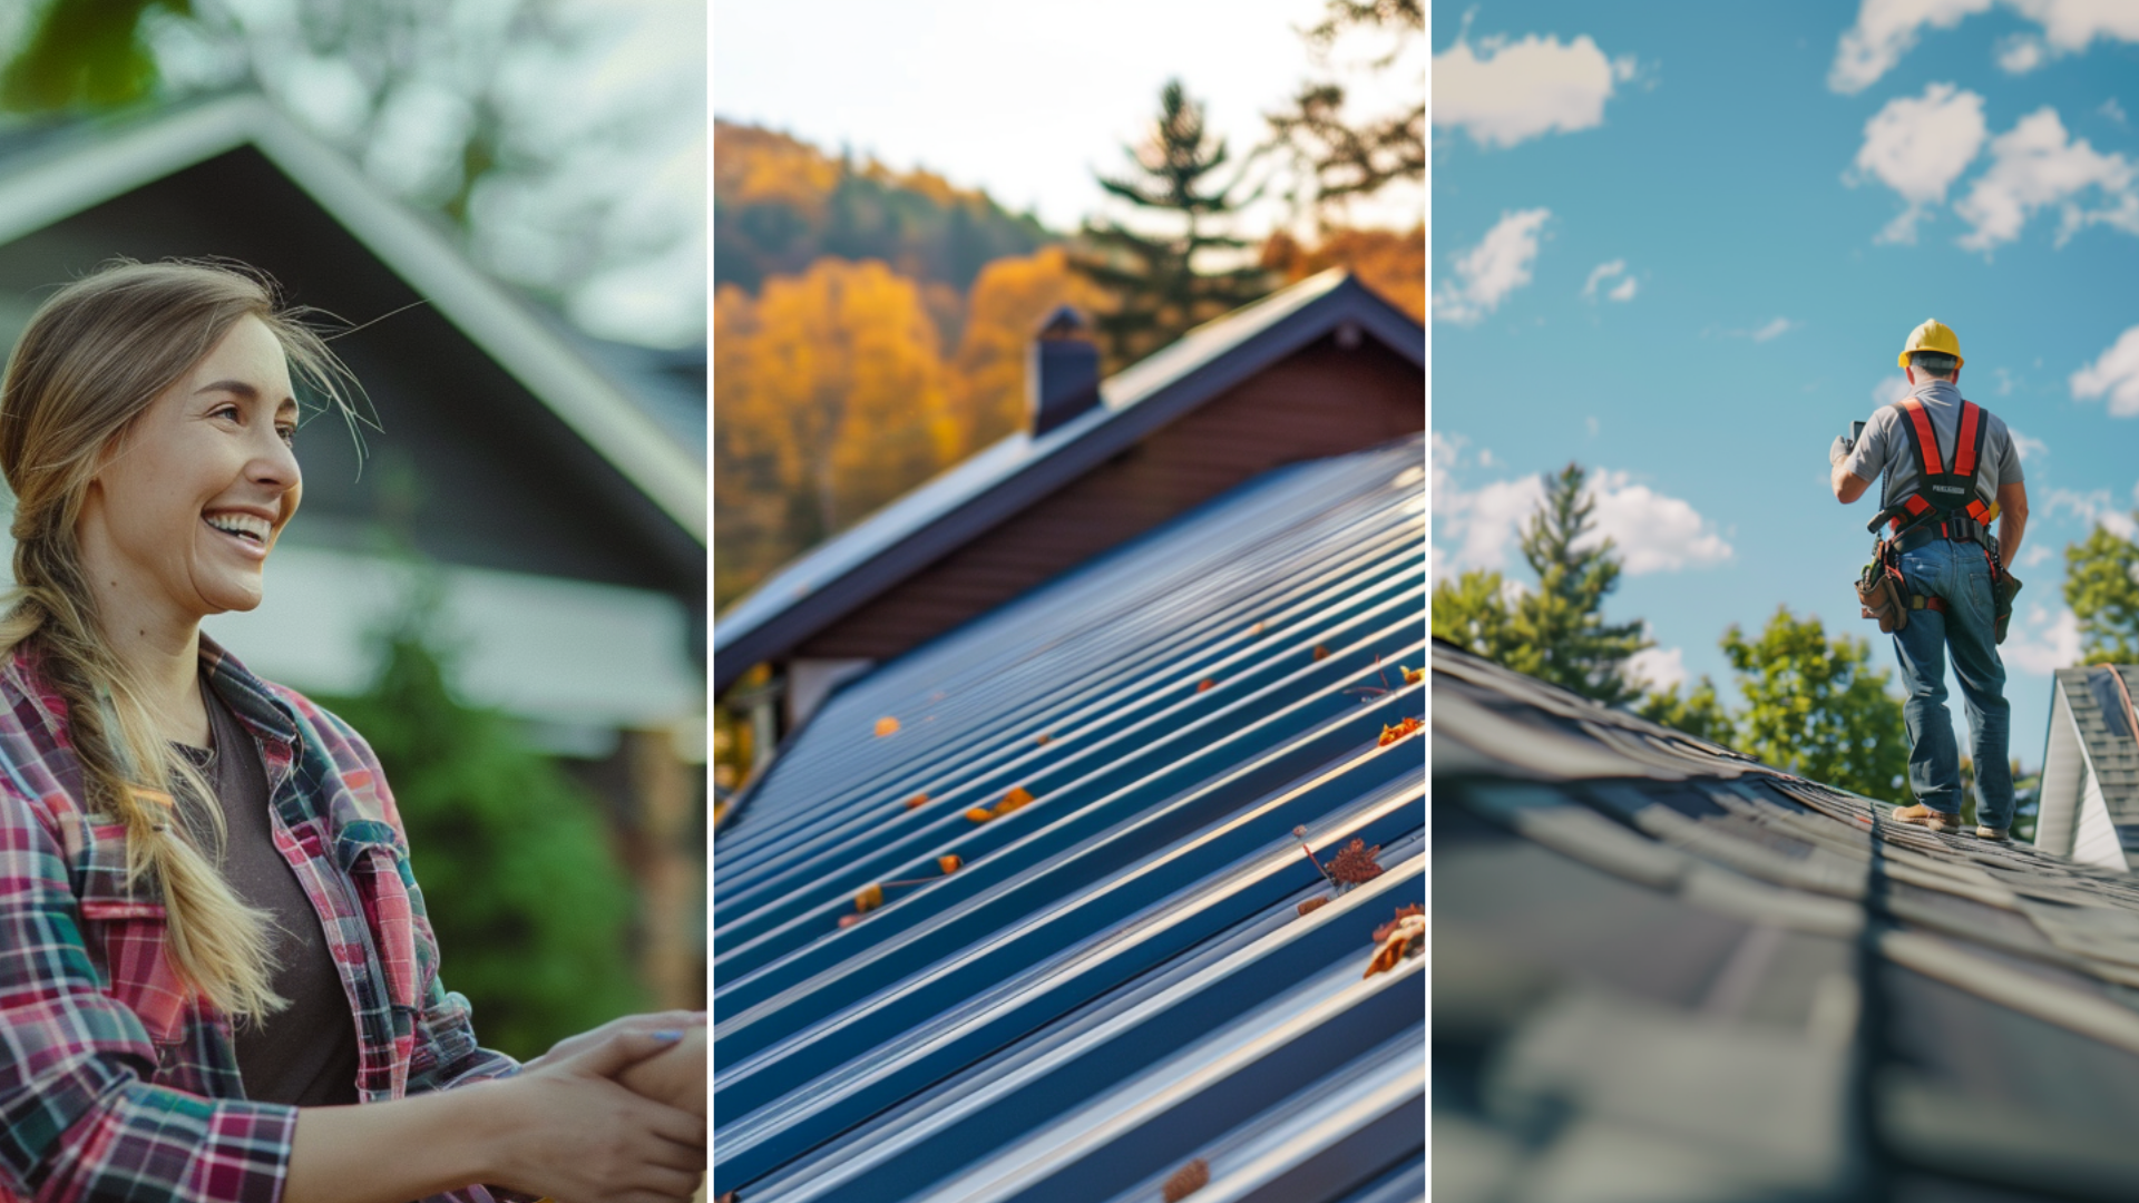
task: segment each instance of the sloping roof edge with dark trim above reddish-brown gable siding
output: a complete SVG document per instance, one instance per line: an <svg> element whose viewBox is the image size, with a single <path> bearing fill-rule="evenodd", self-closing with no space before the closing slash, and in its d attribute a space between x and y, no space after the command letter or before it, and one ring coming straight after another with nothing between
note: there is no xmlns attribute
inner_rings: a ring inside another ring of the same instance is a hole
<svg viewBox="0 0 2139 1203"><path fill-rule="evenodd" d="M1341 325L1425 368L1425 332L1343 270L1200 325L1099 385L1099 405L1042 437L1020 430L772 574L714 621L714 694L753 664L965 546L1159 426Z"/></svg>

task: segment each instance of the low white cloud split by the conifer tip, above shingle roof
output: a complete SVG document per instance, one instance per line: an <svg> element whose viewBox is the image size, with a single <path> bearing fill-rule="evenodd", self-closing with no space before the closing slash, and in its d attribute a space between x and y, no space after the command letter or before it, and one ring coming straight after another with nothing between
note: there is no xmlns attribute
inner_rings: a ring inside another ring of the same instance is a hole
<svg viewBox="0 0 2139 1203"><path fill-rule="evenodd" d="M1442 539L1455 546L1448 554L1435 554L1435 580L1472 567L1504 572L1514 563L1510 557L1523 524L1544 501L1544 477L1497 479L1465 490L1457 482L1457 473L1467 467L1465 439L1440 430L1431 439L1433 518L1442 524ZM1596 501L1596 529L1581 546L1611 539L1628 576L1679 572L1735 554L1715 524L1692 505L1634 484L1630 473L1596 469L1589 473L1587 494Z"/></svg>

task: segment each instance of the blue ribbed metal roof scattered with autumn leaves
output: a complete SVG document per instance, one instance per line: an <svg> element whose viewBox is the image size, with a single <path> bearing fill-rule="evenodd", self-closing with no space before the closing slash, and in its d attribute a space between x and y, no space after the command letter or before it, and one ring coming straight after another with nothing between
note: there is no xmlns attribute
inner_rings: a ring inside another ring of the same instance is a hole
<svg viewBox="0 0 2139 1203"><path fill-rule="evenodd" d="M834 694L714 837L712 1192L1418 1199L1425 512L1277 469Z"/></svg>

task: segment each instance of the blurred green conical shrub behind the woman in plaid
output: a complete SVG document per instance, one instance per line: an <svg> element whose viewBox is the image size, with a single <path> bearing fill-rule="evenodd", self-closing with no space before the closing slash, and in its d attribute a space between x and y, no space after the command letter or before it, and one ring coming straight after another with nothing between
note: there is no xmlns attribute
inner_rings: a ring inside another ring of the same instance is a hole
<svg viewBox="0 0 2139 1203"><path fill-rule="evenodd" d="M486 1047L526 1060L644 1010L629 959L635 897L599 803L528 749L511 719L453 698L432 610L415 606L387 634L366 694L321 704L379 753L441 978L468 995Z"/></svg>

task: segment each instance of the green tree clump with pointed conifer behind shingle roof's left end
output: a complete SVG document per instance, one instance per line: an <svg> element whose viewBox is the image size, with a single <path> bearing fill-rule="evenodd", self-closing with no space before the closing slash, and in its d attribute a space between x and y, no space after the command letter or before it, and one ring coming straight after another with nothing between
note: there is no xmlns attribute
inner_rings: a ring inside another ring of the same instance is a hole
<svg viewBox="0 0 2139 1203"><path fill-rule="evenodd" d="M1619 584L1611 539L1591 539L1596 501L1583 469L1568 465L1544 486L1523 527L1523 561L1538 587L1510 591L1497 572L1467 572L1433 587L1433 634L1517 672L1619 706L1641 698L1626 661L1651 646L1641 623L1606 623L1604 597ZM1517 593L1512 599L1510 593Z"/></svg>

